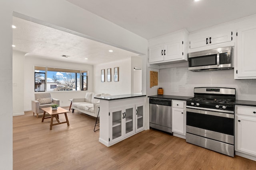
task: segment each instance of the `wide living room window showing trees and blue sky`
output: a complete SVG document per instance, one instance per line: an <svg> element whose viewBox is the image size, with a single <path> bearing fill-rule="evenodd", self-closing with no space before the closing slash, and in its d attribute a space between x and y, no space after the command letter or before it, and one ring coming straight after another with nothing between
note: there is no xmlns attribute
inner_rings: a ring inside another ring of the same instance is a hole
<svg viewBox="0 0 256 170"><path fill-rule="evenodd" d="M87 71L35 66L35 92L70 90L87 90Z"/></svg>

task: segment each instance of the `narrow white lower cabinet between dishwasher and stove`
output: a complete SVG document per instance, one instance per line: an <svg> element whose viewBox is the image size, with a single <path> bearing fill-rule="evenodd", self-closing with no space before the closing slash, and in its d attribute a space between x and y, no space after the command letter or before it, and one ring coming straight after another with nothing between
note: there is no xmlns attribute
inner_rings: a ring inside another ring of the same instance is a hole
<svg viewBox="0 0 256 170"><path fill-rule="evenodd" d="M174 136L185 138L186 101L172 100L172 132ZM177 135L177 134L183 135Z"/></svg>

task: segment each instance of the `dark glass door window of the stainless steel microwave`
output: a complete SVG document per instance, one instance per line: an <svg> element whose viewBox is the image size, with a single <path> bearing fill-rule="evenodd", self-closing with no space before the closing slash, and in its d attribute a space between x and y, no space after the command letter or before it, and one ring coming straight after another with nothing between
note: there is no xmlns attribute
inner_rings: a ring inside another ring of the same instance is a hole
<svg viewBox="0 0 256 170"><path fill-rule="evenodd" d="M217 54L189 58L189 66L210 66L217 65Z"/></svg>

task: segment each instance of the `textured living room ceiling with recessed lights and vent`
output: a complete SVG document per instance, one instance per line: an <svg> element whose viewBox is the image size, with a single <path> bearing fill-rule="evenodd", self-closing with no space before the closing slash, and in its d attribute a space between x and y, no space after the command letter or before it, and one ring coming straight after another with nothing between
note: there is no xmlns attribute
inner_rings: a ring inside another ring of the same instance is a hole
<svg viewBox="0 0 256 170"><path fill-rule="evenodd" d="M16 26L13 29L13 45L16 46L13 49L16 51L85 64L108 63L137 56L123 49L20 18L13 17L13 25ZM110 49L113 50L112 53L109 52Z"/></svg>

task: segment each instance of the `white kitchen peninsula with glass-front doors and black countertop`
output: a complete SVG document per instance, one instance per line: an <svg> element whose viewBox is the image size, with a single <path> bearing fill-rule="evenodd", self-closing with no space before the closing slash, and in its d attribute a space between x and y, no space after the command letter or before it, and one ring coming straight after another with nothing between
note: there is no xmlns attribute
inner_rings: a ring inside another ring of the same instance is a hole
<svg viewBox="0 0 256 170"><path fill-rule="evenodd" d="M145 129L146 95L95 98L100 99L100 143L109 147Z"/></svg>

